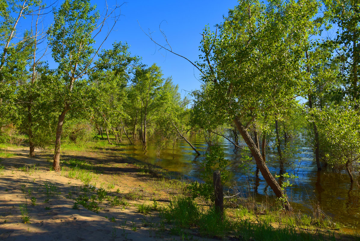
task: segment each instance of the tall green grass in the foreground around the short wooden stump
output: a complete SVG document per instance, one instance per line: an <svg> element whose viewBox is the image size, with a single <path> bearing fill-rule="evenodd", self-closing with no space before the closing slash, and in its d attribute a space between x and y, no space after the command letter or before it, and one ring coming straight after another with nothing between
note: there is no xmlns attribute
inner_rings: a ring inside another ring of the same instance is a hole
<svg viewBox="0 0 360 241"><path fill-rule="evenodd" d="M271 214L261 215L256 220L247 216L251 214L243 207L235 210L234 218L226 212L221 218L219 213L212 207L203 208L189 197L177 197L170 204L160 210L161 222L167 223L168 231L172 235L187 237L194 230L202 237L226 239L228 235L238 237L239 240L261 241L323 241L336 240L333 231L321 229L313 232L310 229L298 228L296 216L282 218L283 223L277 223ZM302 216L301 222L309 224L309 216ZM190 232L190 230L192 230Z"/></svg>

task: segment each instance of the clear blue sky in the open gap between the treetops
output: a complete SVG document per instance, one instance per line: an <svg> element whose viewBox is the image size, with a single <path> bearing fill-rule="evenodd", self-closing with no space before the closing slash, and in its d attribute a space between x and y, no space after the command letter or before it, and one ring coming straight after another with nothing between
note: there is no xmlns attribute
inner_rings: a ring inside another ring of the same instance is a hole
<svg viewBox="0 0 360 241"><path fill-rule="evenodd" d="M60 0L61 1L61 0ZM92 1L103 9L104 1ZM112 6L115 1L108 1ZM161 66L165 77L172 76L175 84L181 89L191 91L198 89L200 82L199 71L189 62L170 52L158 52L158 47L141 31L154 31L153 37L160 43L165 43L160 31L165 31L168 42L174 52L184 55L192 61L198 60L201 35L205 25L210 27L222 22L222 15L228 14L228 9L238 4L235 0L222 1L134 1L130 0L121 7L121 18L117 23L116 31L112 32L104 48L111 48L116 41L127 41L130 52L142 57L147 65L157 63ZM60 5L60 4L59 4ZM139 23L138 23L139 21ZM163 56L165 55L165 57ZM195 76L194 76L195 75ZM181 91L184 97L185 92Z"/></svg>

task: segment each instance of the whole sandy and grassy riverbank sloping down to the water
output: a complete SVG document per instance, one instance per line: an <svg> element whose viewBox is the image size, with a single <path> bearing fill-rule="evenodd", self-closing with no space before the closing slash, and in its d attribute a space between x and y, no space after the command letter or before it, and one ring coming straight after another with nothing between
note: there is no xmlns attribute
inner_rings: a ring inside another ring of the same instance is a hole
<svg viewBox="0 0 360 241"><path fill-rule="evenodd" d="M306 215L288 216L249 200L240 201L241 206L237 206L240 202L228 202L225 221L217 222L206 203L186 198L185 180L169 179L166 171L122 156L121 150L121 146L102 141L82 148L64 145L62 170L57 173L51 170L50 151L37 152L36 158L30 158L25 147L2 146L0 237L358 240L351 231L343 232L341 225L316 224Z"/></svg>

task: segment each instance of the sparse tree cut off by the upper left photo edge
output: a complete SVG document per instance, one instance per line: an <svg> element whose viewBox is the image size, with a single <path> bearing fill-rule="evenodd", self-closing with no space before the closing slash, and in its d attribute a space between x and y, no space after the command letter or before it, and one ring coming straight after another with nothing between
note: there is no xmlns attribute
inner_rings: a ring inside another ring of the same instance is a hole
<svg viewBox="0 0 360 241"><path fill-rule="evenodd" d="M36 19L36 11L43 8L41 1L0 1L0 139L1 130L17 116L16 89L19 82L30 78L28 66L34 47L32 43L39 39L39 31L35 35L32 31L18 32L18 26L31 15ZM21 35L23 37L19 37Z"/></svg>

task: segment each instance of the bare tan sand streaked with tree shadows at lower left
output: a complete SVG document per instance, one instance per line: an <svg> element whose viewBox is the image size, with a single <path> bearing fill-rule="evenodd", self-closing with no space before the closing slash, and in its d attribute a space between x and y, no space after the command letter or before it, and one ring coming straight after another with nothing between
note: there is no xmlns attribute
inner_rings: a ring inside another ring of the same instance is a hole
<svg viewBox="0 0 360 241"><path fill-rule="evenodd" d="M14 168L14 165L22 166L24 163L50 166L43 158L30 159L21 155L3 158L1 164L5 169L0 172L0 240L181 240L160 231L157 213L146 216L138 213L134 203L144 201L129 201L130 206L120 207L100 204L102 209L98 214L81 205L78 210L73 209L75 200L69 198L68 192L78 190L83 185L80 180L69 179L41 167L30 172ZM101 178L106 179L107 176ZM118 177L115 181L124 191L135 188L129 183L135 186L143 184L131 175ZM53 187L53 191L46 192L45 184L48 189ZM31 205L32 197L36 198L35 206ZM26 203L26 216L31 218L30 223L25 224L19 205ZM116 222L111 222L112 217ZM204 239L194 237L194 240Z"/></svg>

